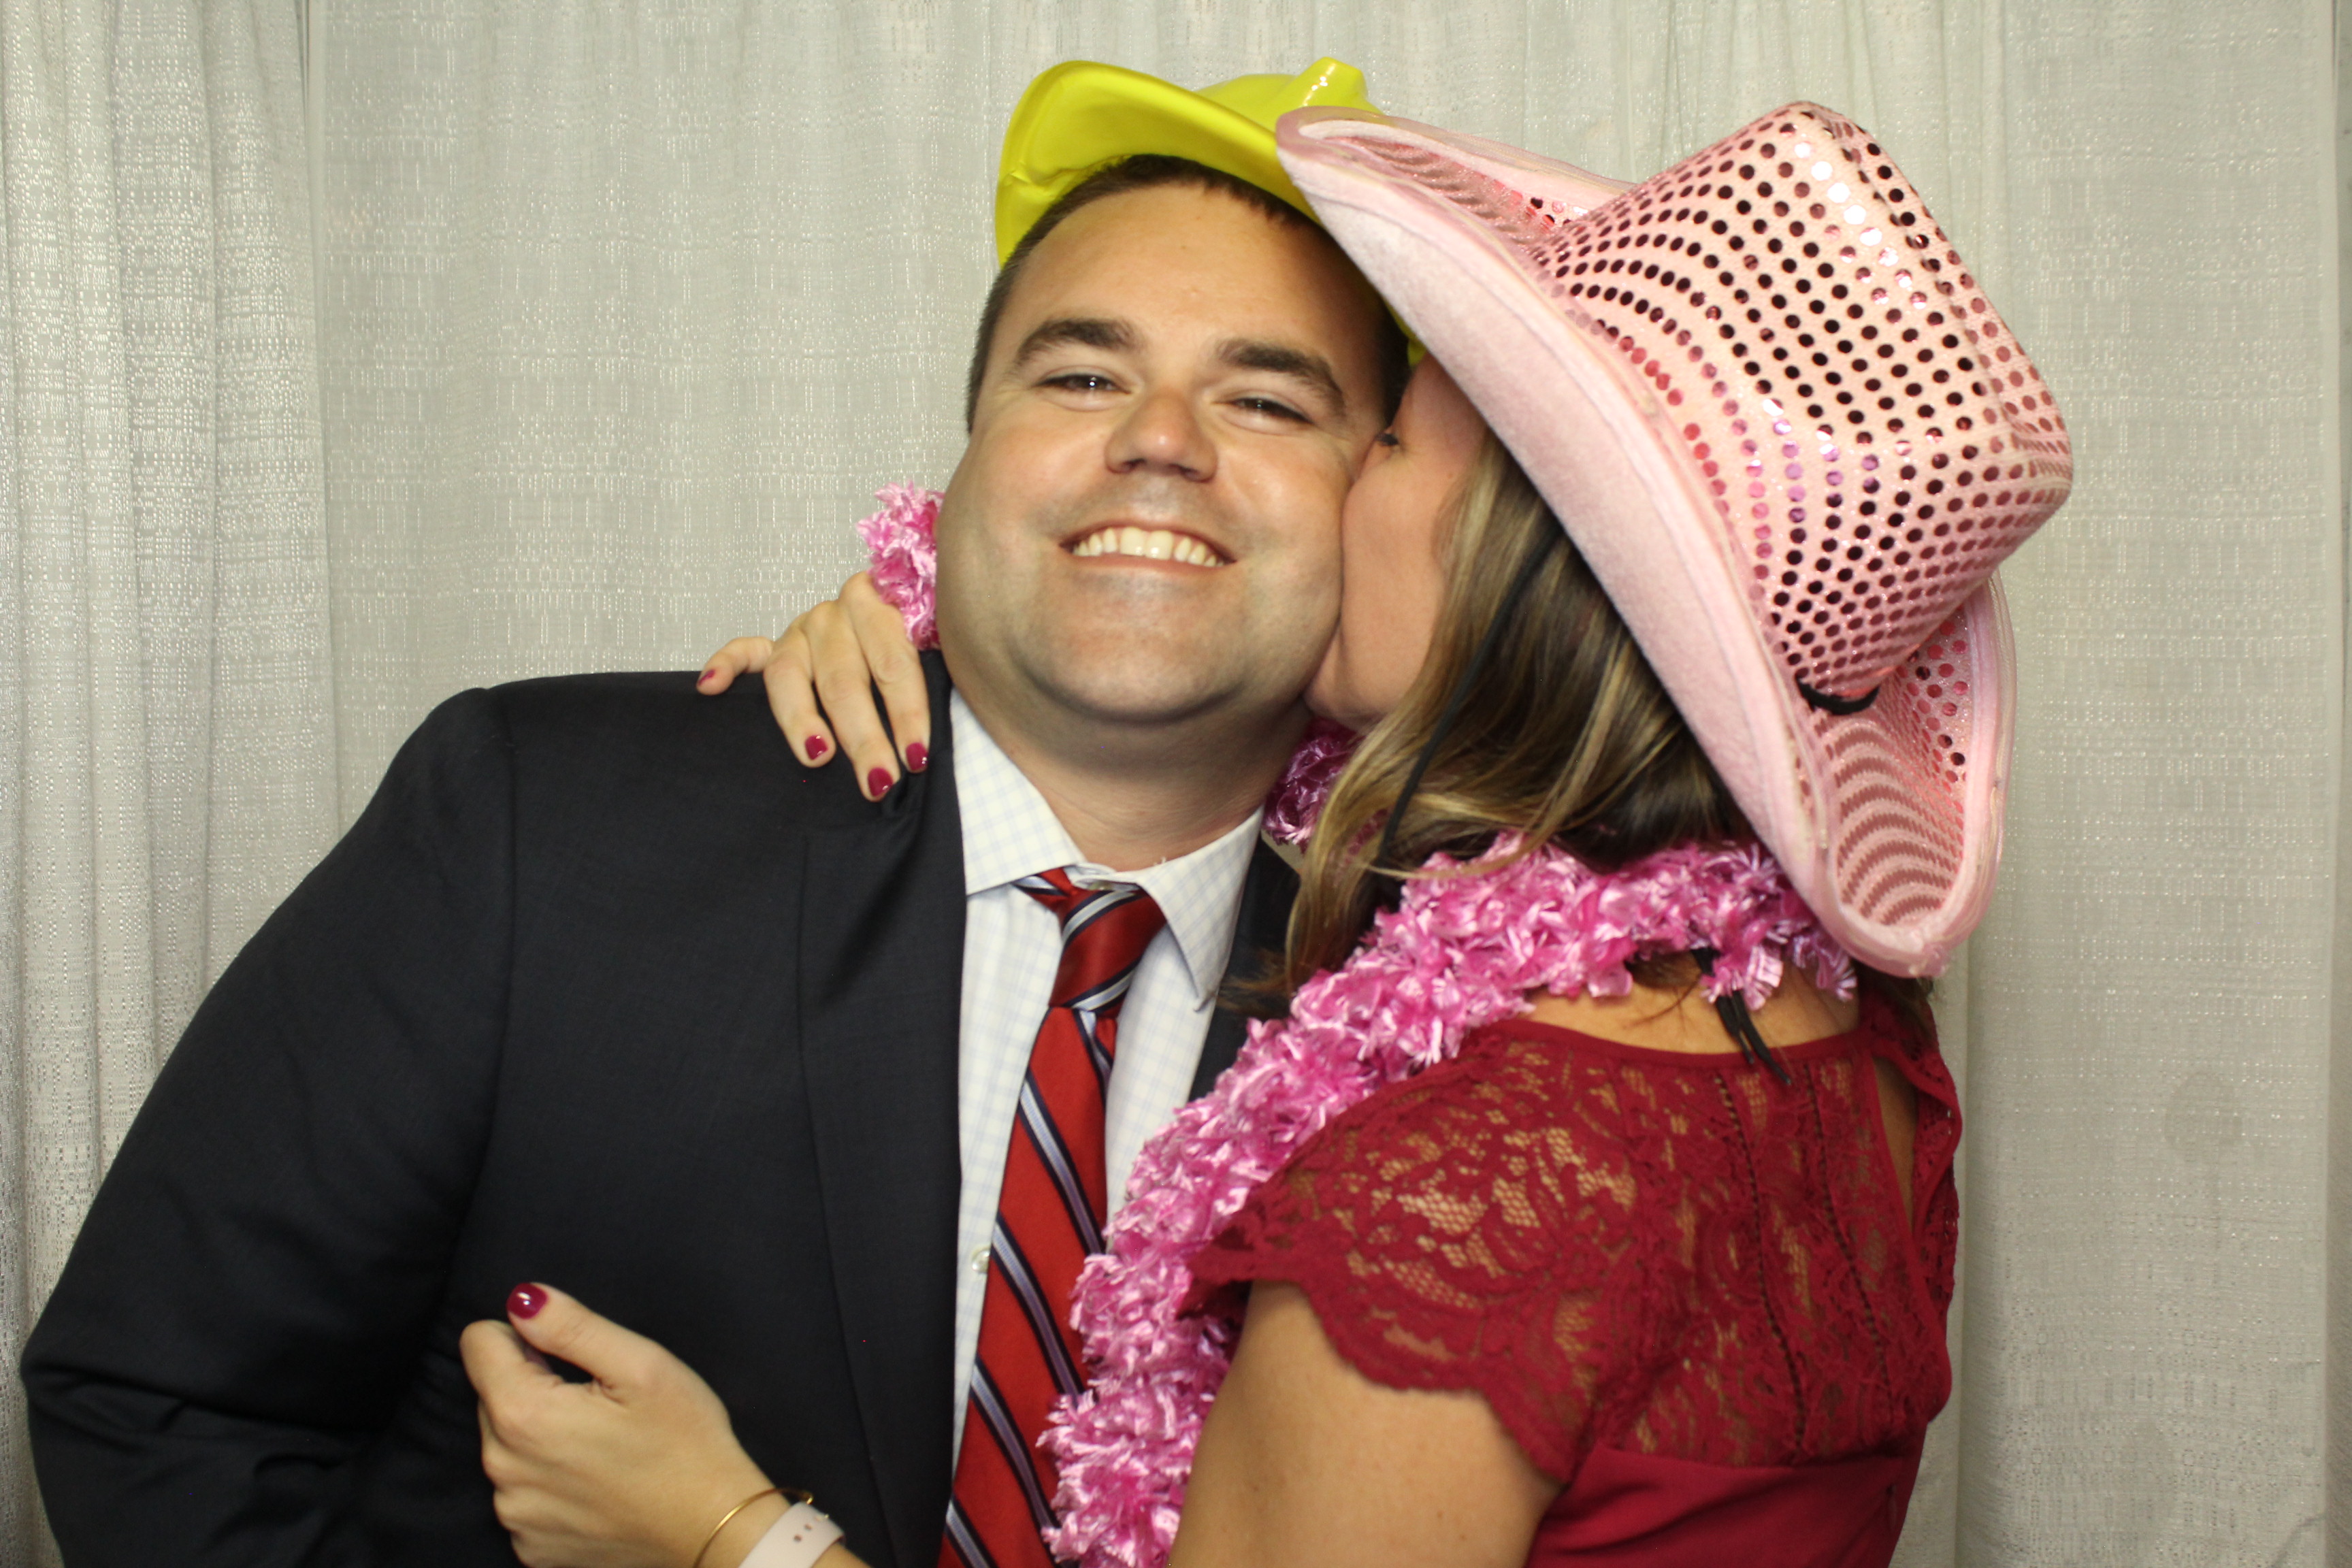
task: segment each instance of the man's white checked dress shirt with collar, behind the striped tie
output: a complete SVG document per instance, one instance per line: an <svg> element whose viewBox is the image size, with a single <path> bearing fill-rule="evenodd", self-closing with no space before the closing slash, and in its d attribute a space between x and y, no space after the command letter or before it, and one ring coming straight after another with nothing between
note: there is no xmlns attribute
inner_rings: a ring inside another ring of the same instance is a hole
<svg viewBox="0 0 2352 1568"><path fill-rule="evenodd" d="M964 827L964 1011L957 1051L964 1194L955 1225L953 1427L962 1443L1004 1150L1021 1103L1021 1077L1061 964L1061 924L1051 910L1016 889L1014 879L1068 867L1080 884L1131 882L1167 914L1167 929L1143 950L1143 964L1120 1009L1120 1046L1103 1126L1110 1213L1117 1213L1136 1152L1192 1093L1216 987L1232 952L1242 882L1258 844L1258 816L1251 813L1225 837L1176 860L1112 872L1087 863L1037 785L981 729L962 693L948 698L948 724Z"/></svg>

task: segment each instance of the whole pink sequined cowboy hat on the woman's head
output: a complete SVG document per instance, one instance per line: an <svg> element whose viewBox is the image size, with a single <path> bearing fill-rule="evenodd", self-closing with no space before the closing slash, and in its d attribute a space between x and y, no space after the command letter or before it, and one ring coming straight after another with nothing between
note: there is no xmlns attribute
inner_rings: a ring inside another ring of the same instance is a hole
<svg viewBox="0 0 2352 1568"><path fill-rule="evenodd" d="M1625 188L1308 108L1324 228L1559 515L1823 926L1936 973L1992 893L1994 567L2067 496L2025 350L1910 181L1790 103Z"/></svg>

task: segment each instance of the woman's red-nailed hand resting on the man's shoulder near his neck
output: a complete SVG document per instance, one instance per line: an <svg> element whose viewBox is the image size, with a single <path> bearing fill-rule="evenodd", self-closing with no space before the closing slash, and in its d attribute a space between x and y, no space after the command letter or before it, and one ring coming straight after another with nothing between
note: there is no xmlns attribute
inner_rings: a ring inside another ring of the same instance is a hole
<svg viewBox="0 0 2352 1568"><path fill-rule="evenodd" d="M842 583L842 597L802 614L781 637L736 637L722 646L696 689L717 696L743 675L767 682L767 705L793 755L826 766L847 752L866 799L882 799L901 769L929 766L931 691L922 658L908 642L906 616L863 571ZM889 729L882 712L889 712Z"/></svg>

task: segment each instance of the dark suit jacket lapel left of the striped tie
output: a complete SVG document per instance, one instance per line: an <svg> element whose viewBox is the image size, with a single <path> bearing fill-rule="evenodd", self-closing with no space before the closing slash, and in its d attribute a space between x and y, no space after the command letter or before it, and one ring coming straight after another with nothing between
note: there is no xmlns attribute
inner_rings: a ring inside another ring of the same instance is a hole
<svg viewBox="0 0 2352 1568"><path fill-rule="evenodd" d="M948 712L936 656L931 712ZM938 1559L955 1380L964 849L950 726L875 827L811 835L800 1037L826 1232L891 1549Z"/></svg>

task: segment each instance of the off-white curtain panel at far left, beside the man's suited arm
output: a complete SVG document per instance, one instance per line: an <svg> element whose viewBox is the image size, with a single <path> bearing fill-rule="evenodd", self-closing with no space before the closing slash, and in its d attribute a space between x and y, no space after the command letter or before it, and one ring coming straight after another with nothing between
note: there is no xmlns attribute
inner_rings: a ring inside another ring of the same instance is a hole
<svg viewBox="0 0 2352 1568"><path fill-rule="evenodd" d="M301 59L0 5L0 1338L205 985L334 842ZM0 1559L47 1554L0 1382Z"/></svg>

